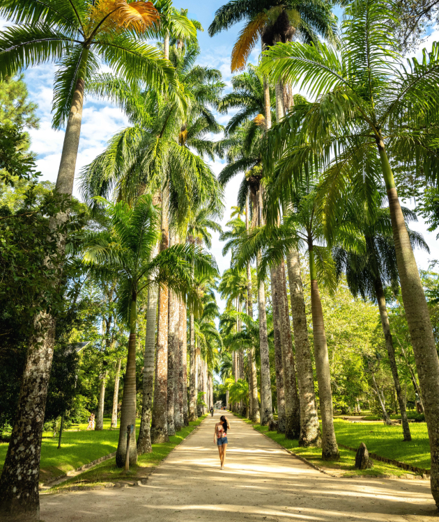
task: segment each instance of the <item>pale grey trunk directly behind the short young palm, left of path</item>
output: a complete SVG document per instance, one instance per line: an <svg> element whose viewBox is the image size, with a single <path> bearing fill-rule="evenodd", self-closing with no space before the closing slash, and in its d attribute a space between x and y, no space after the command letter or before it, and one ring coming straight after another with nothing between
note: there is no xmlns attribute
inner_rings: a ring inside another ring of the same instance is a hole
<svg viewBox="0 0 439 522"><path fill-rule="evenodd" d="M144 355L144 380L141 406L141 420L139 438L137 439L137 452L151 453L151 416L153 408L154 391L154 358L155 358L155 327L157 326L157 299L158 289L150 285L148 287L148 303L146 305L146 335Z"/></svg>

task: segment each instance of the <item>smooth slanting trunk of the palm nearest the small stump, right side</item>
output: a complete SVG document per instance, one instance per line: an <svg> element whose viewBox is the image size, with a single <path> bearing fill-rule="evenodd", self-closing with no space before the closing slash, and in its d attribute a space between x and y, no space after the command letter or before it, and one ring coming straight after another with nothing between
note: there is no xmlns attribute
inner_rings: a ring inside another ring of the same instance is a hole
<svg viewBox="0 0 439 522"><path fill-rule="evenodd" d="M309 276L311 278L311 313L312 331L314 334L314 358L316 359L316 374L318 381L318 397L322 416L322 459L337 460L340 457L337 439L334 432L332 416L331 374L326 344L323 309L318 291L314 251L309 245Z"/></svg>

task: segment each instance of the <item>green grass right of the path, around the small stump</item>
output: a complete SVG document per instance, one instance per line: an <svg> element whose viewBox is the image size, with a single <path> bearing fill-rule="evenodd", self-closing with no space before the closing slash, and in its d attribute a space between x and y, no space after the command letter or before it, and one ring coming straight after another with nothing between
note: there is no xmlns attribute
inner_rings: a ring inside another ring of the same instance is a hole
<svg viewBox="0 0 439 522"><path fill-rule="evenodd" d="M242 418L242 417L241 417ZM248 424L252 424L248 419L242 418ZM373 460L373 468L367 470L355 469L355 452L351 450L340 450L339 461L323 461L321 458L321 448L299 448L298 441L291 441L283 434L270 432L268 426L252 424L254 429L261 432L273 441L276 441L286 450L291 450L301 457L309 460L318 467L332 468L344 471L344 475L393 475L400 477L408 472L391 464ZM383 423L371 422L367 425L352 424L344 420L334 420L337 441L341 444L356 448L364 442L370 452L376 453L388 459L399 460L412 464L420 468L430 468L430 447L429 438L426 432L426 425L415 425L412 430L413 440L409 443L402 440L401 426L385 426ZM412 426L410 425L410 429ZM413 475L413 473L410 473Z"/></svg>

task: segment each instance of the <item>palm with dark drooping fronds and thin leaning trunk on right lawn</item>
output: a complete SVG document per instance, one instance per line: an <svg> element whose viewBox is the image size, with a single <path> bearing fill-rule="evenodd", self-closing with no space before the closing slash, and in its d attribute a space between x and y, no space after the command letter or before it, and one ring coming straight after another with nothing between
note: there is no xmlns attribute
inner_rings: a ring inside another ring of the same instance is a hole
<svg viewBox="0 0 439 522"><path fill-rule="evenodd" d="M383 193L378 191L377 204L383 204ZM396 255L392 237L392 223L390 221L390 212L388 208L380 208L376 212L373 221L367 219L364 215L364 207L353 205L352 221L359 228L363 235L366 245L364 255L358 255L348 252L343 248L334 248L333 257L336 262L337 274L342 271L346 274L346 280L354 296L360 294L363 299L369 297L373 301L377 301L380 310L381 326L385 338L387 354L389 356L390 370L394 380L396 396L398 397L399 410L401 411L401 420L404 441L411 441L410 427L406 412L406 404L404 403L401 384L399 382L398 368L396 367L395 351L390 332L389 318L387 316L387 307L385 301L385 286L389 285L392 290L399 287L398 268L396 266ZM363 209L363 212L361 210ZM406 222L417 219L416 214L408 209L403 209ZM426 251L429 247L425 244L422 236L417 232L408 230L412 247L420 246Z"/></svg>

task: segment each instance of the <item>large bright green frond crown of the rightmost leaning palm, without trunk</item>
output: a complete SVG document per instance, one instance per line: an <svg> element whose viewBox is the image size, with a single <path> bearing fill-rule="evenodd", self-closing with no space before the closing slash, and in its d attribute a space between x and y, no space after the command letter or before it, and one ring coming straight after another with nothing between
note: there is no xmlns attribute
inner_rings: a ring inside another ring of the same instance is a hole
<svg viewBox="0 0 439 522"><path fill-rule="evenodd" d="M346 8L339 49L288 42L263 53L264 74L291 82L314 100L295 105L268 133L264 160L275 172L266 207L270 221L310 164L323 172L325 205L334 219L334 209L343 212L347 187L364 194L369 210L376 207L384 149L393 167L436 181L439 46L424 50L422 61L404 62L387 19L394 19L391 4L356 0ZM334 219L326 225L328 235Z"/></svg>

